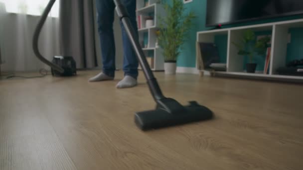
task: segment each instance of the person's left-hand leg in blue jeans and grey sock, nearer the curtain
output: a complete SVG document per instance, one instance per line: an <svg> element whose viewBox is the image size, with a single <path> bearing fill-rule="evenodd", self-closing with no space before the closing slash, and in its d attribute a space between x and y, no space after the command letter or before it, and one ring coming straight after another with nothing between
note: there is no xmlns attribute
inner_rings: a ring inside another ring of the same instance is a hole
<svg viewBox="0 0 303 170"><path fill-rule="evenodd" d="M96 0L98 32L101 44L103 73L89 81L113 80L115 77L115 39L113 31L115 4L113 0Z"/></svg>

